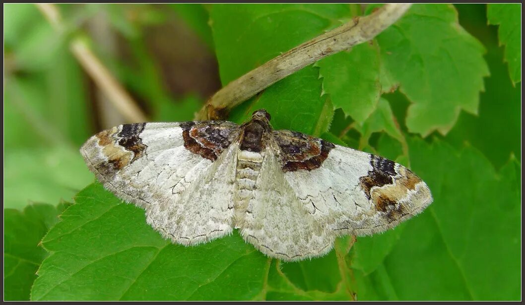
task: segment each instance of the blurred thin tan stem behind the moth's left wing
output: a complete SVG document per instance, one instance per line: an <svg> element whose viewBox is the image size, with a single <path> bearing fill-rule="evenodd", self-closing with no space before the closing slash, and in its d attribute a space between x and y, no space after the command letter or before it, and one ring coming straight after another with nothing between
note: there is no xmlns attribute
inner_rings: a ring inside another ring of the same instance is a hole
<svg viewBox="0 0 525 305"><path fill-rule="evenodd" d="M36 5L49 23L53 25L55 30L60 32L64 29L60 12L54 4L40 3ZM111 72L102 64L95 54L93 54L85 42L80 38L73 38L70 41L70 48L75 58L80 62L80 65L86 70L104 94L106 94L119 112L122 113L126 120L129 122L146 122L148 120L129 93L125 91L117 79L111 75Z"/></svg>

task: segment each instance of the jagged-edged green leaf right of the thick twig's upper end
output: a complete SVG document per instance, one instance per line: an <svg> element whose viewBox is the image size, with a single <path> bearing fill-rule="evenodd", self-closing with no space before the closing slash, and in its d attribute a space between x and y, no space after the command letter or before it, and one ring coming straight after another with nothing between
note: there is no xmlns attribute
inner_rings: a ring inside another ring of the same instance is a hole
<svg viewBox="0 0 525 305"><path fill-rule="evenodd" d="M399 83L413 103L406 125L427 136L446 134L461 109L476 114L483 77L489 70L484 47L467 33L446 4L414 4L379 36L383 83Z"/></svg>

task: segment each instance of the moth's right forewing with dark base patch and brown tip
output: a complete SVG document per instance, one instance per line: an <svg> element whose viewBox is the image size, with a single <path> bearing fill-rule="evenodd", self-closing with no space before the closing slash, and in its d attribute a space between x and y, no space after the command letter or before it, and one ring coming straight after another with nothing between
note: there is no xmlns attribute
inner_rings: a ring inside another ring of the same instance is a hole
<svg viewBox="0 0 525 305"><path fill-rule="evenodd" d="M274 138L286 182L335 235L383 232L432 203L426 183L393 161L297 132L277 131Z"/></svg>

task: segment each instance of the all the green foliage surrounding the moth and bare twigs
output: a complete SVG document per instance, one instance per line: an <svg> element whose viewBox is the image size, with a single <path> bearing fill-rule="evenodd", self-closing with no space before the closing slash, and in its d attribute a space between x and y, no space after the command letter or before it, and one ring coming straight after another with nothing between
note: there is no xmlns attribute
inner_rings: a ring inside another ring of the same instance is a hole
<svg viewBox="0 0 525 305"><path fill-rule="evenodd" d="M308 66L230 113L240 123L265 108L276 129L409 165L433 192L422 215L393 230L351 248L342 238L325 257L286 264L237 233L173 245L145 223L142 209L90 184L78 149L104 128L109 111L68 45L89 37L152 121L185 121L207 96L181 93L169 81L171 61L159 56L155 33L167 33L174 20L213 52L213 77L226 85L362 7L57 7L63 31L34 5L4 6L6 300L520 298L520 6L413 5L371 44ZM167 54L190 48L167 41ZM67 204L55 206L75 194L57 223Z"/></svg>

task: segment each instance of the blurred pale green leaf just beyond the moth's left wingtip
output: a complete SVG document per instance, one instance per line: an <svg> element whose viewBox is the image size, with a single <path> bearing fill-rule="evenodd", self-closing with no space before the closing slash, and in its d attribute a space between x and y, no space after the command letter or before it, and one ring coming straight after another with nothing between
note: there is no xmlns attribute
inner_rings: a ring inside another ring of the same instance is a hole
<svg viewBox="0 0 525 305"><path fill-rule="evenodd" d="M7 150L4 174L4 207L9 208L69 200L93 181L80 153L68 146Z"/></svg>

